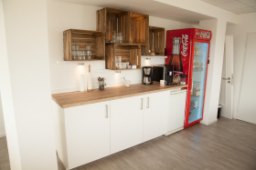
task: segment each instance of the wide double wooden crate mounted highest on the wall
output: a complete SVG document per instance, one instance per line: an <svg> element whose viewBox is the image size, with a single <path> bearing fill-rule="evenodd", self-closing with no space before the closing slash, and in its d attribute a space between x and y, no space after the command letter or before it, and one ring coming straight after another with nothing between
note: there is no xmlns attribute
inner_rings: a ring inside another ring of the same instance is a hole
<svg viewBox="0 0 256 170"><path fill-rule="evenodd" d="M123 33L124 44L148 45L149 15L105 7L97 11L97 30L112 42L113 31Z"/></svg>

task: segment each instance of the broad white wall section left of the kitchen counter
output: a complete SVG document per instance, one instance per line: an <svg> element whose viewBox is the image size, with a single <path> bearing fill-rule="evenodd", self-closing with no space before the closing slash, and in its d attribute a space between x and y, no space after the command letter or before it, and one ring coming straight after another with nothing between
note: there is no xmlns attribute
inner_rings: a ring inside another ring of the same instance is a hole
<svg viewBox="0 0 256 170"><path fill-rule="evenodd" d="M3 96L5 90L1 91L2 105L8 149L13 149L11 144L14 141L8 139L12 136L11 131L16 130L16 151L21 163L18 168L13 167L16 163L10 156L11 166L12 169L57 170L46 0L6 0L3 6L8 56L5 66L9 67L12 94ZM3 77L0 78L2 81ZM6 104L11 96L14 110ZM14 116L10 117L9 110L14 112ZM11 125L10 121L15 125Z"/></svg>

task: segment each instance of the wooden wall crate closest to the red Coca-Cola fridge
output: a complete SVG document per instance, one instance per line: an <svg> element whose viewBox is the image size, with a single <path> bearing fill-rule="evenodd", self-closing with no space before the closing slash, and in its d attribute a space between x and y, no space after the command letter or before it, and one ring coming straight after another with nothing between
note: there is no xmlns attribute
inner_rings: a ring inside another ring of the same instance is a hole
<svg viewBox="0 0 256 170"><path fill-rule="evenodd" d="M149 50L155 49L155 55L165 55L165 28L149 26L149 45L142 46L142 55L151 55Z"/></svg>

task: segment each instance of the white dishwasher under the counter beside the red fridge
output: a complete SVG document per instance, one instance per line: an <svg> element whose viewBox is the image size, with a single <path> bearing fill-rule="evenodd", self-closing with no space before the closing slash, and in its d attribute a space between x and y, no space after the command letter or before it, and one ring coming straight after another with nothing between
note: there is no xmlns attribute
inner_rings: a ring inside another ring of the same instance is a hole
<svg viewBox="0 0 256 170"><path fill-rule="evenodd" d="M170 92L168 131L165 135L171 135L184 129L186 96L187 89L180 89Z"/></svg>

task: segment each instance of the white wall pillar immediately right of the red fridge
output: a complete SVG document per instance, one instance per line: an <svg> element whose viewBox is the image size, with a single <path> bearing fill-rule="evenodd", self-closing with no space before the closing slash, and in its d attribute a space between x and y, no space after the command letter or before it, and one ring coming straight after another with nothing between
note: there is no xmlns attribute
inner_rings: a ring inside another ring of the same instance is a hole
<svg viewBox="0 0 256 170"><path fill-rule="evenodd" d="M204 115L201 121L205 125L210 125L217 121L226 25L227 21L223 19L200 21L199 24L200 28L212 32L209 48Z"/></svg>

